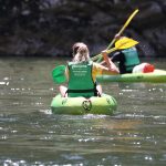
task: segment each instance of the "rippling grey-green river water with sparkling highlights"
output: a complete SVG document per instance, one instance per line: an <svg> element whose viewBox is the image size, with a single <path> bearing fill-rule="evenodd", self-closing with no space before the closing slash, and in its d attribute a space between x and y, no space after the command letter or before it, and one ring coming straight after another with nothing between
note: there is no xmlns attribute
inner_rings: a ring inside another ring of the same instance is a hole
<svg viewBox="0 0 166 166"><path fill-rule="evenodd" d="M153 63L166 70L166 60ZM166 84L104 83L117 113L53 115L64 60L0 59L0 165L139 166L166 164Z"/></svg>

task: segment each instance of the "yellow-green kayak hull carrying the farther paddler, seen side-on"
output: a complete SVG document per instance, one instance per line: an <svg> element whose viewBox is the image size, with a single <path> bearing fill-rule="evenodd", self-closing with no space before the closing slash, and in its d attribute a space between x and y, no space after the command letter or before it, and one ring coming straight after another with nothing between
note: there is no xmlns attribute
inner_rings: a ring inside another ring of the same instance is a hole
<svg viewBox="0 0 166 166"><path fill-rule="evenodd" d="M155 70L151 73L127 73L120 75L102 75L97 76L98 82L149 82L149 83L166 83L166 71Z"/></svg>

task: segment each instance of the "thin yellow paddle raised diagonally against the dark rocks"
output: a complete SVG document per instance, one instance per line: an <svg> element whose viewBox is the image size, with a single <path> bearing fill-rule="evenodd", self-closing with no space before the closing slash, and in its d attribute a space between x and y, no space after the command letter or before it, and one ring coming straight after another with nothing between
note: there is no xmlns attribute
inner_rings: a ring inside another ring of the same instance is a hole
<svg viewBox="0 0 166 166"><path fill-rule="evenodd" d="M123 33L123 31L126 29L126 27L129 24L129 22L132 21L132 19L136 15L136 13L138 12L138 9L136 9L131 15L129 15L129 18L127 19L127 21L125 22L125 24L122 27L122 29L120 30L120 32L117 33L117 34L122 34ZM115 42L115 38L112 40L112 42L108 44L108 46L106 48L106 50L108 50L108 49L111 49L111 46L114 44L114 42ZM95 55L95 56L98 56L98 54L97 55ZM95 58L94 56L94 58ZM95 60L95 59L94 59ZM100 62L102 60L102 56L100 56L100 59L97 60L97 62Z"/></svg>

